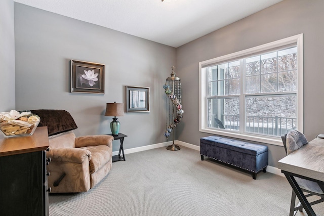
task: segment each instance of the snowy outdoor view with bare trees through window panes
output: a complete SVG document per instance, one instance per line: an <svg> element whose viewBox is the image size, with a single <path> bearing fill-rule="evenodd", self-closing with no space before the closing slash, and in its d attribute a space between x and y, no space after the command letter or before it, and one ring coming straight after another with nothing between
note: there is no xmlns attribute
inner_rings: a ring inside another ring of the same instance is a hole
<svg viewBox="0 0 324 216"><path fill-rule="evenodd" d="M297 69L296 46L209 66L208 126L270 136L296 128ZM239 118L241 94L244 127Z"/></svg>

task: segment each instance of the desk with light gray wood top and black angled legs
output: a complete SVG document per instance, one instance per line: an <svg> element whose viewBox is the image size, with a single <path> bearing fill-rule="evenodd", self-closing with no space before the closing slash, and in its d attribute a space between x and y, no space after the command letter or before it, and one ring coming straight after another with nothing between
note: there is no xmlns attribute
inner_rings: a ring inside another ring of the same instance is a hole
<svg viewBox="0 0 324 216"><path fill-rule="evenodd" d="M324 184L324 139L316 138L278 161L307 214L316 215L296 183L294 176Z"/></svg>

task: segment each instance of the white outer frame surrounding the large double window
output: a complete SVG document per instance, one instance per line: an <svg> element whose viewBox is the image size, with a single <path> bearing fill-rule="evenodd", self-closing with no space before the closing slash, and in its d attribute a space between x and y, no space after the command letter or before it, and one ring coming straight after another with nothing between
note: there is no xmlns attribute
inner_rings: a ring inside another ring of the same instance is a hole
<svg viewBox="0 0 324 216"><path fill-rule="evenodd" d="M298 131L303 133L303 34L294 35L291 37L287 37L284 39L276 40L273 42L269 42L268 44L264 44L261 46L257 46L254 48L250 48L247 50L242 50L236 53L228 54L225 56L217 57L214 59L206 60L203 62L199 62L199 132L209 133L209 134L216 134L221 136L227 136L227 137L233 137L238 139L244 139L244 140L251 140L255 142L260 143L267 143L267 144L273 144L273 145L279 145L283 146L281 138L280 137L271 137L271 136L265 136L260 134L251 134L251 133L245 133L242 131L227 131L224 129L218 129L218 128L210 128L207 125L207 119L208 119L208 107L207 107L207 96L208 96L208 86L207 86L207 70L204 68L217 64L220 62L225 61L231 61L235 59L239 59L246 56L252 56L254 54L262 53L268 50L276 49L282 46L288 46L296 44L297 45L297 68L298 68L298 89L297 89L297 128ZM241 90L244 86L244 83L241 83ZM241 91L241 95L242 91ZM241 95L239 97L241 97Z"/></svg>

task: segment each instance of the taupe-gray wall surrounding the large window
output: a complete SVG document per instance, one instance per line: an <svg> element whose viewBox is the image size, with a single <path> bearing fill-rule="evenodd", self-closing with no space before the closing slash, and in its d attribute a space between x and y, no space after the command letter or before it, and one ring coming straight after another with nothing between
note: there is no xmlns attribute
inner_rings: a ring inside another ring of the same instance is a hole
<svg viewBox="0 0 324 216"><path fill-rule="evenodd" d="M324 132L324 1L285 0L177 49L184 117L178 140L199 145L211 134L199 130L198 63L304 33L304 133L310 141ZM285 156L284 147L268 145L269 165Z"/></svg>

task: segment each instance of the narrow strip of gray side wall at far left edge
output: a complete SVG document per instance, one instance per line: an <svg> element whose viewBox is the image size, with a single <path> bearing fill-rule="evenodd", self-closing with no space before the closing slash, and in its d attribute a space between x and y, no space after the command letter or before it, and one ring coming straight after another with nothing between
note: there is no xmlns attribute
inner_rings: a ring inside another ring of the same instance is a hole
<svg viewBox="0 0 324 216"><path fill-rule="evenodd" d="M14 2L0 1L0 112L15 109Z"/></svg>

